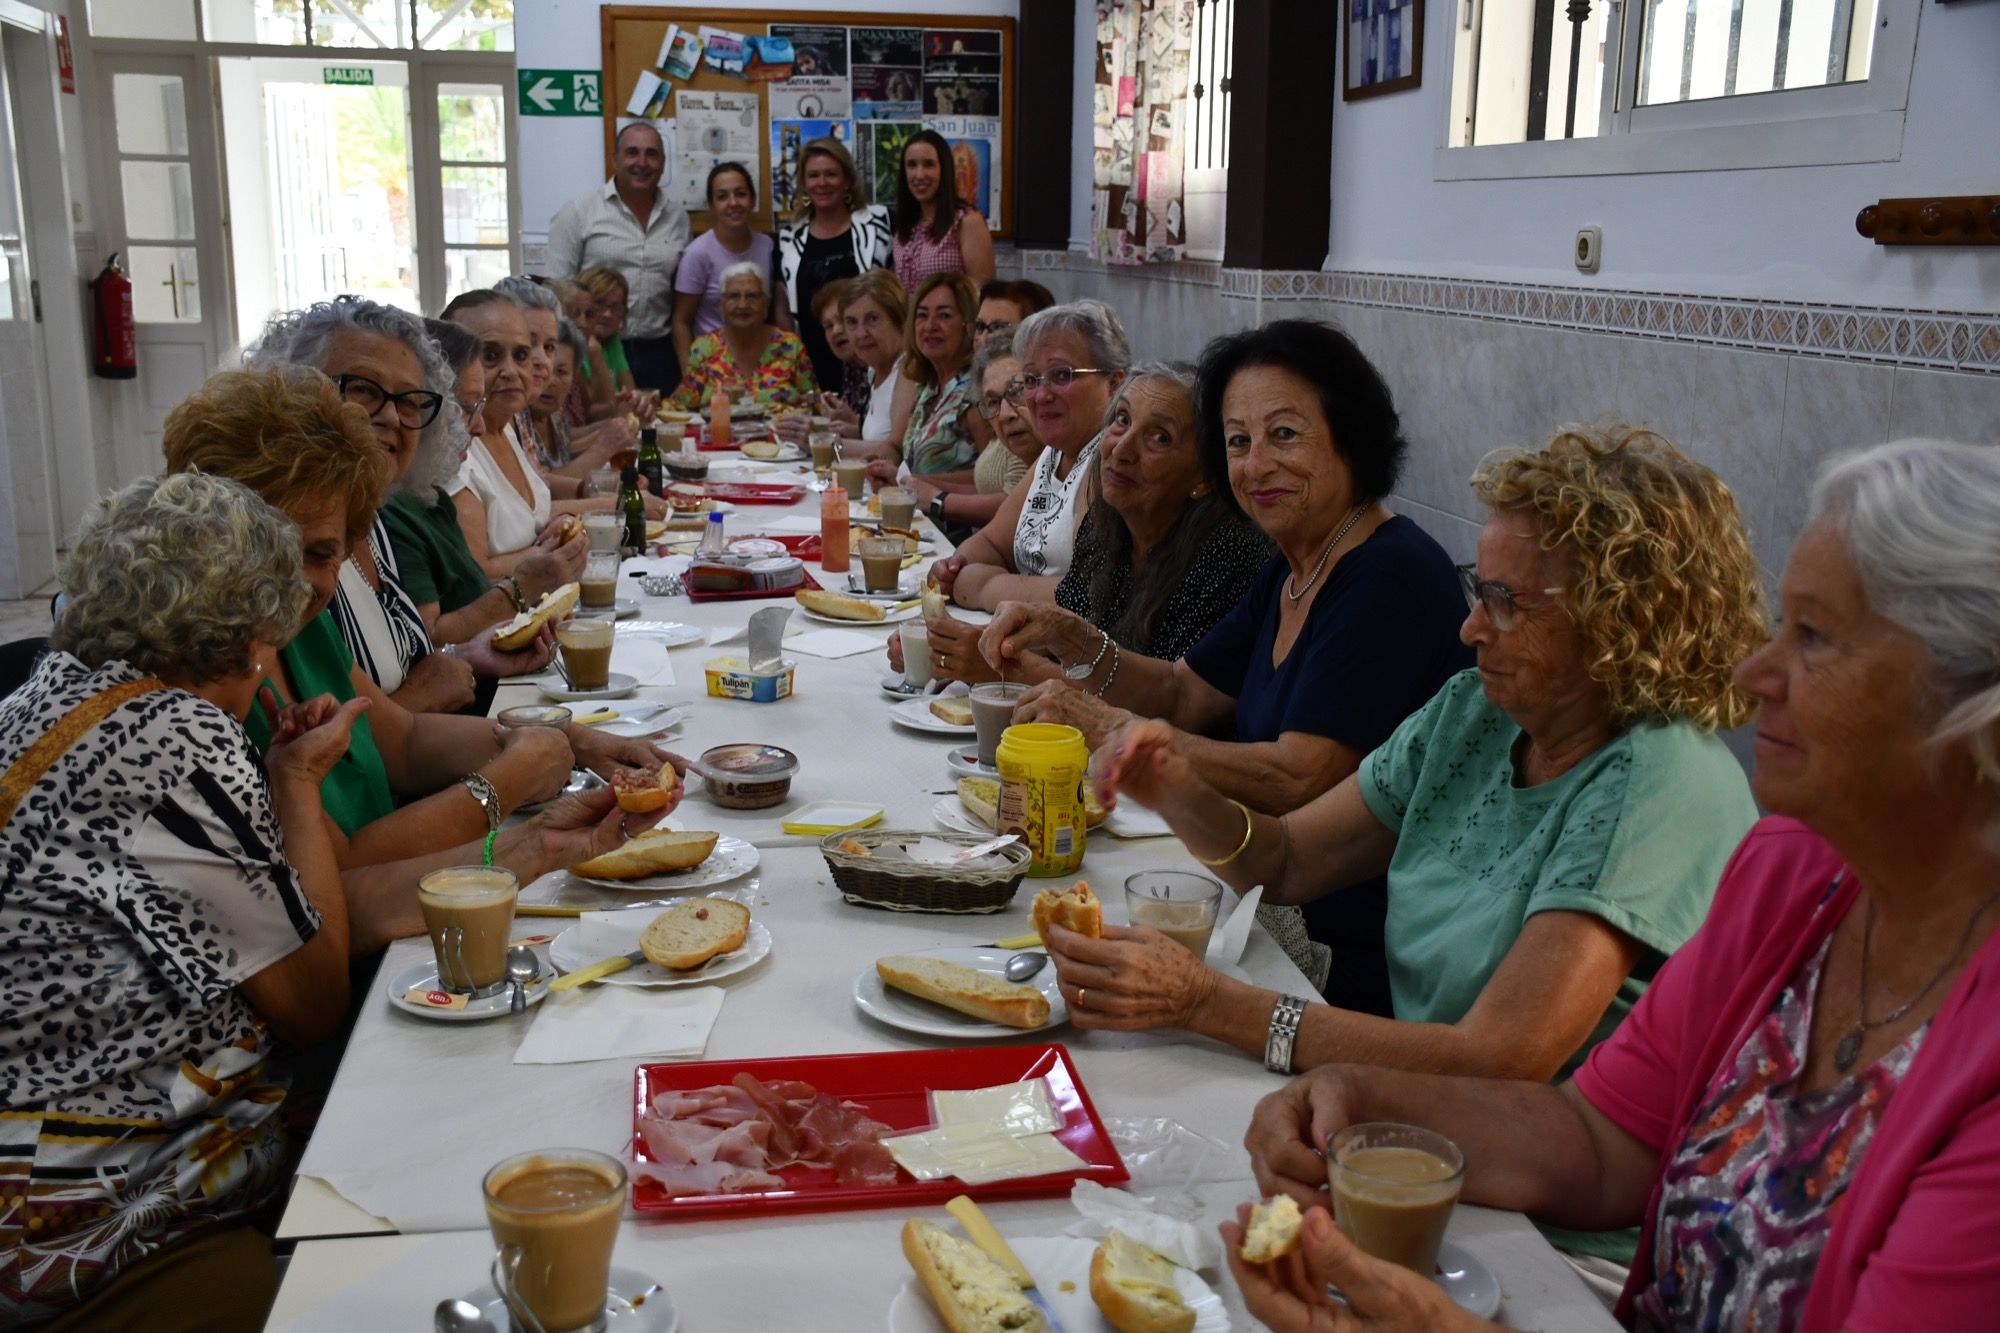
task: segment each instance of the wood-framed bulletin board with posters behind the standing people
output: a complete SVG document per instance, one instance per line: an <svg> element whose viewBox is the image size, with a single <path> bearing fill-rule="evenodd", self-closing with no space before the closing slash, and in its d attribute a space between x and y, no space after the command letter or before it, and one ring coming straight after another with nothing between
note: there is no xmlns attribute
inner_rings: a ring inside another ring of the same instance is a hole
<svg viewBox="0 0 2000 1333"><path fill-rule="evenodd" d="M902 144L920 128L952 144L958 196L996 236L1014 230L1012 18L614 4L600 28L606 174L618 130L652 122L666 144L660 188L696 230L708 168L730 160L756 172L750 224L788 222L798 148L828 134L854 154L862 198L894 208ZM786 66L760 56L782 50L752 38L790 38L790 74L774 78Z"/></svg>

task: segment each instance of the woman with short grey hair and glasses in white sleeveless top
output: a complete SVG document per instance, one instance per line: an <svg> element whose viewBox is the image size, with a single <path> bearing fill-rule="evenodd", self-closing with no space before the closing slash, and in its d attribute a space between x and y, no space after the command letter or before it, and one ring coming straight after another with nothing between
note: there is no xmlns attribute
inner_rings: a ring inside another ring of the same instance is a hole
<svg viewBox="0 0 2000 1333"><path fill-rule="evenodd" d="M992 520L930 566L952 600L974 610L1056 596L1076 548L1076 524L1094 494L1098 432L1132 364L1124 324L1102 300L1030 314L1014 334L1014 350L1020 376L1006 400L1034 426L1042 454ZM948 522L950 496L934 498L930 516Z"/></svg>

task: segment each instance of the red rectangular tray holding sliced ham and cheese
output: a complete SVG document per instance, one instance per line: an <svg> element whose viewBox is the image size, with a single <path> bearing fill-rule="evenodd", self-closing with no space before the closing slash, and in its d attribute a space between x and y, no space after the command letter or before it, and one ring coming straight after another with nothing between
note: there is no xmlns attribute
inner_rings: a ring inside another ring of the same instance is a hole
<svg viewBox="0 0 2000 1333"><path fill-rule="evenodd" d="M1116 1185L1132 1179L1090 1093L1076 1073L1068 1047L952 1047L944 1051L872 1051L866 1055L800 1055L774 1061L700 1061L696 1065L640 1065L632 1105L632 1157L650 1161L638 1115L668 1091L728 1083L738 1073L758 1079L804 1079L822 1093L860 1105L890 1129L928 1129L934 1089L972 1089L1022 1079L1048 1079L1048 1099L1062 1117L1056 1137L1088 1167L990 1185L904 1179L896 1185L838 1185L832 1171L786 1167L778 1177L788 1189L748 1189L734 1195L670 1197L658 1181L632 1177L632 1211L654 1217L740 1217L744 1213L828 1213L836 1209L888 1209L974 1199L1050 1199L1068 1195L1078 1179Z"/></svg>

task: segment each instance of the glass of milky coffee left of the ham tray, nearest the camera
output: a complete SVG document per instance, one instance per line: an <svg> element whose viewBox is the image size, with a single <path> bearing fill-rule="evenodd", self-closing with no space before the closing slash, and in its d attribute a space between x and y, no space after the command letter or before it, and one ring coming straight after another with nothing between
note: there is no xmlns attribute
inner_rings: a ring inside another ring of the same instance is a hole
<svg viewBox="0 0 2000 1333"><path fill-rule="evenodd" d="M486 1173L494 1289L526 1333L604 1327L626 1171L588 1149L508 1157Z"/></svg>

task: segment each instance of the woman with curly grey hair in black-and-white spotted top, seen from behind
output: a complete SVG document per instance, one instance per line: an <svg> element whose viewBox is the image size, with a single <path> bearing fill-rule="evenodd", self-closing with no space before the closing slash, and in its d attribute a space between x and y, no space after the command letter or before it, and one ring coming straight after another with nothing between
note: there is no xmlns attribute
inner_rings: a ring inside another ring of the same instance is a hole
<svg viewBox="0 0 2000 1333"><path fill-rule="evenodd" d="M284 1181L274 1043L338 1029L376 929L350 921L320 803L366 705L252 749L312 586L298 528L232 480L100 500L62 590L50 650L0 701L0 1325L78 1303L90 1327L148 1325L172 1267L212 1293L210 1327L256 1327L276 1281L244 1219Z"/></svg>

